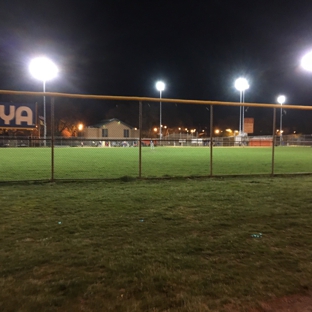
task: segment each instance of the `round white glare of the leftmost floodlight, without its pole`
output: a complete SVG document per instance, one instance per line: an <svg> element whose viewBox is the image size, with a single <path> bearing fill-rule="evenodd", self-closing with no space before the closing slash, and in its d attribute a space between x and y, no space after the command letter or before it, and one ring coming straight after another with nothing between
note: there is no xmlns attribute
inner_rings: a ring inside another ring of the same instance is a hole
<svg viewBox="0 0 312 312"><path fill-rule="evenodd" d="M46 57L34 58L29 64L30 73L41 81L48 81L57 76L58 68Z"/></svg>

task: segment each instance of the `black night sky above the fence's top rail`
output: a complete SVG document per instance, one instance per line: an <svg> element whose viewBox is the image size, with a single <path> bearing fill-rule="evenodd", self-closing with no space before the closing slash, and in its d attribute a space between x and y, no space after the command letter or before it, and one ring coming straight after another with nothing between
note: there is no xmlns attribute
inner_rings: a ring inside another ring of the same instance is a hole
<svg viewBox="0 0 312 312"><path fill-rule="evenodd" d="M234 80L243 75L246 102L274 103L283 93L289 104L312 105L312 73L300 68L311 49L308 0L0 4L0 89L41 91L28 64L44 54L60 68L47 91L158 97L162 79L164 97L239 101ZM192 109L202 123L203 111Z"/></svg>

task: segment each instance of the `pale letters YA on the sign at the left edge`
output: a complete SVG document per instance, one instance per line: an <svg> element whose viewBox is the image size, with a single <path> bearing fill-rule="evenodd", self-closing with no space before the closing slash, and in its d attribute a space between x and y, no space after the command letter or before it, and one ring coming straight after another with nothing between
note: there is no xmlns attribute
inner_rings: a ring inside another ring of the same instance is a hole
<svg viewBox="0 0 312 312"><path fill-rule="evenodd" d="M5 105L0 104L0 119L4 121L4 125L10 126L11 121L14 120L14 125L21 125L25 122L27 126L33 125L33 111L27 106L15 107L14 105L9 106L9 114L5 114Z"/></svg>

